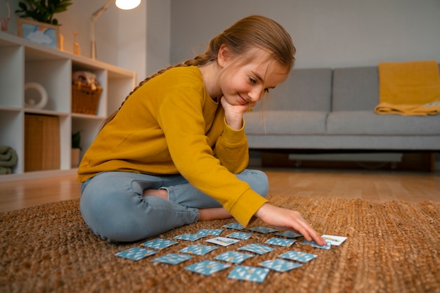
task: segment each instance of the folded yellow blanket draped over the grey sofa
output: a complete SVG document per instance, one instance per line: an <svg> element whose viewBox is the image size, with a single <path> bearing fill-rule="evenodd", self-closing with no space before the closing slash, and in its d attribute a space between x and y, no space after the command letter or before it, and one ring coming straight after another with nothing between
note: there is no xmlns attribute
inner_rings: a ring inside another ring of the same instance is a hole
<svg viewBox="0 0 440 293"><path fill-rule="evenodd" d="M439 65L433 61L380 63L377 114L440 113Z"/></svg>

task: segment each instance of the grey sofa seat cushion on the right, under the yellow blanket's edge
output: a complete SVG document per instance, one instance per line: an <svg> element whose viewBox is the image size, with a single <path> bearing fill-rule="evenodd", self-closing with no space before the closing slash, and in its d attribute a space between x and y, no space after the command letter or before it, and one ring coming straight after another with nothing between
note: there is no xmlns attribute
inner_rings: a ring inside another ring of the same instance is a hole
<svg viewBox="0 0 440 293"><path fill-rule="evenodd" d="M377 115L373 111L337 111L327 118L328 134L424 136L440 135L440 115Z"/></svg>

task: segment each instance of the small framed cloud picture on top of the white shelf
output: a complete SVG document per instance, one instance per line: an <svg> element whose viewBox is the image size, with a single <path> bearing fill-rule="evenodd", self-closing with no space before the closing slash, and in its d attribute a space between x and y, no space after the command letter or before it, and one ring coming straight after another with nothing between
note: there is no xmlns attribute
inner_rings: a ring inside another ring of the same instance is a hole
<svg viewBox="0 0 440 293"><path fill-rule="evenodd" d="M18 37L52 48L60 48L60 27L48 23L18 18Z"/></svg>

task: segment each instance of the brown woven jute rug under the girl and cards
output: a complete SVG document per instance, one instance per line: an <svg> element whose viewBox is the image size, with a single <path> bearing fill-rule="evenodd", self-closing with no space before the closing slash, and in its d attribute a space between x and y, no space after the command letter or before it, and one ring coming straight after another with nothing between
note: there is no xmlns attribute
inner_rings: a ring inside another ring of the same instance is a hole
<svg viewBox="0 0 440 293"><path fill-rule="evenodd" d="M274 195L269 199L300 211L319 233L347 240L330 250L303 245L301 238L291 247L273 247L273 252L241 265L259 266L290 250L318 257L292 271L270 271L261 283L232 280L228 273L234 264L209 276L185 267L245 243L264 244L273 234L254 233L250 240L177 265L151 259L179 253L189 245L209 244L206 239L179 240L154 256L131 261L115 254L142 247L144 240L126 244L101 240L82 220L79 200L69 200L0 214L0 292L440 292L439 203ZM172 240L176 235L233 222L198 222L159 237ZM252 226L264 223L257 220Z"/></svg>

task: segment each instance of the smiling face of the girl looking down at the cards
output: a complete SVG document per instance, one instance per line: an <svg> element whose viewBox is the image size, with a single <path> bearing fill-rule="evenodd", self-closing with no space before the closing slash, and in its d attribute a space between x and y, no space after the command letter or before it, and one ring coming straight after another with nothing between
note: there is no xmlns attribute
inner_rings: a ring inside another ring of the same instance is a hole
<svg viewBox="0 0 440 293"><path fill-rule="evenodd" d="M230 105L253 107L263 98L264 93L275 88L287 77L285 67L269 58L261 49L254 53L249 63L240 63L240 58L219 60L223 72L219 77L221 96ZM223 65L221 64L223 62Z"/></svg>

